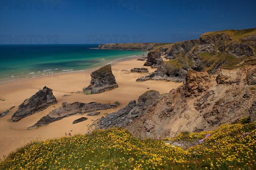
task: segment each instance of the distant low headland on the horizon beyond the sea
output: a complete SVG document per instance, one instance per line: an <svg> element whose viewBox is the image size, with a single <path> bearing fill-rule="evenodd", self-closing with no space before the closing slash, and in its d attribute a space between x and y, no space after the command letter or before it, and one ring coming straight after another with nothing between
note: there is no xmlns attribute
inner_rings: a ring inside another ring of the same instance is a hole
<svg viewBox="0 0 256 170"><path fill-rule="evenodd" d="M118 49L118 50L138 50L138 51L150 51L160 43L110 43L101 44L99 49Z"/></svg>

